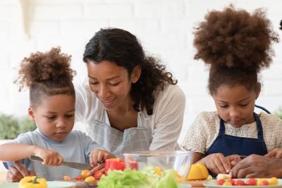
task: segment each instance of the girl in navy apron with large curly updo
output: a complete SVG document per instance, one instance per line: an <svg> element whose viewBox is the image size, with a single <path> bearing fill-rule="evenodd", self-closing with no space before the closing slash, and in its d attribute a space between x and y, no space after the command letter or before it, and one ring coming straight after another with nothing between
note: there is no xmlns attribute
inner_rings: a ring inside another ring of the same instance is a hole
<svg viewBox="0 0 282 188"><path fill-rule="evenodd" d="M218 174L229 172L238 155L266 155L282 146L281 119L254 112L261 90L257 74L271 63L271 42L278 37L260 9L250 14L230 6L205 19L195 30L195 59L210 65L216 112L202 112L182 146L195 151L194 162Z"/></svg>

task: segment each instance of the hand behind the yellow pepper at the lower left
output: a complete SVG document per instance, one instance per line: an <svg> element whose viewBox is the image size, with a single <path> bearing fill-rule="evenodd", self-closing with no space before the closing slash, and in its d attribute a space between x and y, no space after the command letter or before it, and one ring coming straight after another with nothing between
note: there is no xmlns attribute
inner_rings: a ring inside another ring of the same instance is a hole
<svg viewBox="0 0 282 188"><path fill-rule="evenodd" d="M35 171L27 170L25 166L16 161L13 165L10 165L6 175L7 182L20 182L25 176L35 176Z"/></svg>

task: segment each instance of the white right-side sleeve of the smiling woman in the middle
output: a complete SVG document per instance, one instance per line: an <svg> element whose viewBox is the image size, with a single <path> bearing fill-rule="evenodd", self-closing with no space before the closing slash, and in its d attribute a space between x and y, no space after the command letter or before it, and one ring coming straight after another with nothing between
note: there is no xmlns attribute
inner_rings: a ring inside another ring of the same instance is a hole
<svg viewBox="0 0 282 188"><path fill-rule="evenodd" d="M149 150L175 150L183 124L185 95L178 86L168 86L161 94L154 104L153 139Z"/></svg>

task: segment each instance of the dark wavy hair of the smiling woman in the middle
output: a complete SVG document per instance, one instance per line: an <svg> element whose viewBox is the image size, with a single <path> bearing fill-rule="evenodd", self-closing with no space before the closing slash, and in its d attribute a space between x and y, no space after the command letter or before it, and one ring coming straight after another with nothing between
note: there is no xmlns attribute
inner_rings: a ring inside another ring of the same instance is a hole
<svg viewBox="0 0 282 188"><path fill-rule="evenodd" d="M136 83L132 84L130 96L138 112L144 108L147 114L153 114L154 91L169 84L176 84L166 67L154 57L147 57L135 35L118 28L101 29L87 43L83 54L85 63L99 64L101 61L112 61L123 66L131 75L136 66L141 67L141 75Z"/></svg>

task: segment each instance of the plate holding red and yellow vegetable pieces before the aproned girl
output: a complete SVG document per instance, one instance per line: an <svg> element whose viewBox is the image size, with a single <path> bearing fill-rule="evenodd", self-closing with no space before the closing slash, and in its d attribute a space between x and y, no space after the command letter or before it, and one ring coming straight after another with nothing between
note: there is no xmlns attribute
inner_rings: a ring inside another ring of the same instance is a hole
<svg viewBox="0 0 282 188"><path fill-rule="evenodd" d="M256 178L257 180L259 178ZM247 182L247 180L249 180L249 178L243 178L243 179L233 179L233 180L243 180L244 182ZM266 180L269 180L269 178L266 178ZM214 188L214 187L217 187L217 188L240 188L240 187L244 187L244 188L271 188L271 187L282 187L282 179L278 179L278 184L274 184L274 185L264 185L264 186L259 186L259 185L254 185L254 186L251 186L251 185L242 185L242 186L235 186L235 185L218 185L216 184L216 180L212 180L212 181L204 181L204 187L211 187L211 188Z"/></svg>

